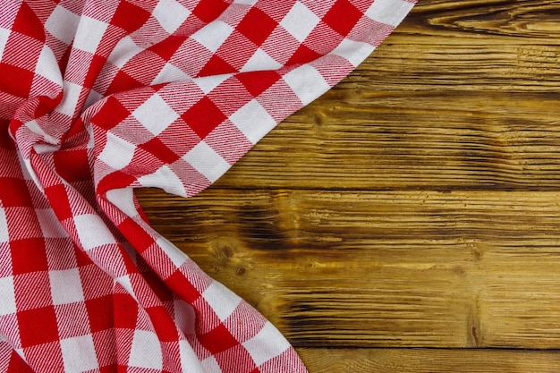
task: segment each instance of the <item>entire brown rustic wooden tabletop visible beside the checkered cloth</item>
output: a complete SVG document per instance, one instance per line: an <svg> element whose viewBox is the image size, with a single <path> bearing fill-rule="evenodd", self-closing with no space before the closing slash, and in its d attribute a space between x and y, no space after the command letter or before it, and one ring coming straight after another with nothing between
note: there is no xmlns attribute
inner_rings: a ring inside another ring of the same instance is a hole
<svg viewBox="0 0 560 373"><path fill-rule="evenodd" d="M560 366L560 2L420 0L160 233L310 373Z"/></svg>

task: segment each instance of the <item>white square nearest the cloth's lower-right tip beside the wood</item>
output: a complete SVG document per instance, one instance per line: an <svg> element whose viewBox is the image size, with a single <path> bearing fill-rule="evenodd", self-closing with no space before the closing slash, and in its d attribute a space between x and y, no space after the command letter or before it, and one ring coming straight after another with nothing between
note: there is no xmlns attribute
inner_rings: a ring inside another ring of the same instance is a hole
<svg viewBox="0 0 560 373"><path fill-rule="evenodd" d="M269 322L263 326L258 335L242 344L257 366L275 358L290 348L290 343Z"/></svg>

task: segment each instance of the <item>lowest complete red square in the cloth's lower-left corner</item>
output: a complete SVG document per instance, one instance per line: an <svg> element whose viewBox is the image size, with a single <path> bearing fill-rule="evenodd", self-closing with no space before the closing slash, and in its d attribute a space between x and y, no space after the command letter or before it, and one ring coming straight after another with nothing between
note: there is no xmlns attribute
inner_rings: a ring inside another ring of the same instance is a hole
<svg viewBox="0 0 560 373"><path fill-rule="evenodd" d="M23 348L59 339L53 306L18 312L18 325Z"/></svg>

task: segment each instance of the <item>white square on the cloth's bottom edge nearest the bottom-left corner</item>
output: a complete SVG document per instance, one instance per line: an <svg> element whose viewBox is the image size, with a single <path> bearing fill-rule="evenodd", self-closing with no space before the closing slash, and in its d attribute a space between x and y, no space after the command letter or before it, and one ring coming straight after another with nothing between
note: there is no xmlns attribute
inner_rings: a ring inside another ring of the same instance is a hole
<svg viewBox="0 0 560 373"><path fill-rule="evenodd" d="M91 335L62 339L60 348L65 373L80 373L98 368L98 358Z"/></svg>

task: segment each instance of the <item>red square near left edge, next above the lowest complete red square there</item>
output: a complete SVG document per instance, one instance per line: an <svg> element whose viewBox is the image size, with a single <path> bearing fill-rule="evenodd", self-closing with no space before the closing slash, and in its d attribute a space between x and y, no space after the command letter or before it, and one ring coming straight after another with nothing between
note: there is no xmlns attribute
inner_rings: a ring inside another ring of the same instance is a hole
<svg viewBox="0 0 560 373"><path fill-rule="evenodd" d="M10 242L13 275L47 271L47 254L42 238L29 238Z"/></svg>

